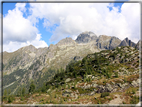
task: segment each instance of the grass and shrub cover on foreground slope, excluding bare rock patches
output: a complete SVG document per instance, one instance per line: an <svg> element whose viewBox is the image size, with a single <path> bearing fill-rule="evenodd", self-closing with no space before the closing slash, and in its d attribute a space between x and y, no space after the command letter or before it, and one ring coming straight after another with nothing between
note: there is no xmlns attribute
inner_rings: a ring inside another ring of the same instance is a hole
<svg viewBox="0 0 142 107"><path fill-rule="evenodd" d="M132 60L134 57L137 57L138 51L135 49L128 48L128 51L134 52L134 56L130 52L126 52L124 50L125 47L121 49L116 48L115 50L109 51L101 51L95 54L87 55L82 61L71 62L66 70L58 71L58 74L54 76L54 78L47 82L42 90L38 90L32 95L27 95L27 97L15 97L15 101L13 103L37 103L37 104L87 104L90 102L93 104L102 104L108 103L109 101L115 99L115 95L119 94L124 98L123 103L137 103L138 97L135 97L135 94L138 87L130 87L127 88L123 92L114 92L109 93L109 96L104 98L101 97L101 93L95 93L92 96L79 94L85 94L92 92L95 88L89 88L86 90L81 89L79 86L87 83L91 84L93 82L98 85L105 85L106 83L122 83L124 82L131 83L133 80L139 78L139 74L133 74L135 70L138 70L138 58L136 60ZM108 53L108 54L106 54ZM118 56L120 54L120 56ZM109 57L107 57L109 56ZM123 58L122 58L123 57ZM131 59L132 61L124 61L124 59ZM113 63L113 61L119 60L119 63ZM122 69L123 68L123 69ZM114 73L115 71L115 73ZM119 72L126 72L126 75L120 75ZM131 73L130 73L131 72ZM94 79L87 78L87 75L93 75ZM70 78L71 81L68 83L65 82L67 78ZM74 88L72 88L74 87ZM48 93L46 93L48 90ZM70 96L62 96L65 90L71 90L73 92L79 91L78 97L73 98ZM31 100L29 100L31 99ZM5 100L5 103L7 101Z"/></svg>

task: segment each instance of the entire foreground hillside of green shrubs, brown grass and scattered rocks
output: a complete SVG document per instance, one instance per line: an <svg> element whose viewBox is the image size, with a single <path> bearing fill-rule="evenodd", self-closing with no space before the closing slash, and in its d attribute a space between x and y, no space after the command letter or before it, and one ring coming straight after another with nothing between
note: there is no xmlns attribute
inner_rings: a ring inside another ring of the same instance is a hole
<svg viewBox="0 0 142 107"><path fill-rule="evenodd" d="M101 50L81 60L76 56L40 89L4 94L3 104L137 104L139 57L139 51L130 46Z"/></svg>

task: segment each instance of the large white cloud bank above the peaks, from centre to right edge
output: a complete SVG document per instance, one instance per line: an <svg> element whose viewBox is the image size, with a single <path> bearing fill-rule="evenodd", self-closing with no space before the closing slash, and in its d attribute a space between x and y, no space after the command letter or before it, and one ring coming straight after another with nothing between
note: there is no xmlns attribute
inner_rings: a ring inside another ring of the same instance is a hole
<svg viewBox="0 0 142 107"><path fill-rule="evenodd" d="M125 37L137 42L140 36L140 5L124 3L119 7L109 3L40 3L30 4L30 11L36 24L44 19L44 27L53 33L51 42L70 36L76 38L79 33L92 31L97 35ZM112 7L110 11L108 7ZM46 10L43 11L43 10Z"/></svg>

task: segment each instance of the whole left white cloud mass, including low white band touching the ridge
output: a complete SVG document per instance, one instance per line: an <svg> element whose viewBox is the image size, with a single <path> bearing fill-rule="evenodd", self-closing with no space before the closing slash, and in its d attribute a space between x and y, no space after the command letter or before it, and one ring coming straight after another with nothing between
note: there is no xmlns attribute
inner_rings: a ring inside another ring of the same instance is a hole
<svg viewBox="0 0 142 107"><path fill-rule="evenodd" d="M3 51L12 52L23 46L34 45L36 48L47 47L41 40L38 29L23 17L26 11L25 3L17 3L3 18Z"/></svg>

